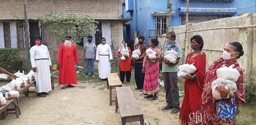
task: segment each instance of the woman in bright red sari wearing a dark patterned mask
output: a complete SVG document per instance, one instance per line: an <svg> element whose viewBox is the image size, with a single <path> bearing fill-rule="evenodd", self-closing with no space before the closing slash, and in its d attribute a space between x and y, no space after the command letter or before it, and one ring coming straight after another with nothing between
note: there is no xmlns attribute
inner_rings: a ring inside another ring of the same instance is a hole
<svg viewBox="0 0 256 125"><path fill-rule="evenodd" d="M196 72L184 77L185 95L180 109L179 120L182 125L196 125L199 120L191 121L190 114L200 113L201 110L201 95L204 87L206 55L202 52L204 45L203 38L200 35L195 35L190 39L193 52L187 55L186 64L192 64L196 67ZM199 111L199 112L198 112Z"/></svg>

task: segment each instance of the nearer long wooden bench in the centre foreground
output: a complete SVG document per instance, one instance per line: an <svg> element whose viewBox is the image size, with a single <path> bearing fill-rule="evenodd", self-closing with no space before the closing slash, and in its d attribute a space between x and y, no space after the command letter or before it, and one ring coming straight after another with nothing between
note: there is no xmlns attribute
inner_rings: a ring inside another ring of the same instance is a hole
<svg viewBox="0 0 256 125"><path fill-rule="evenodd" d="M116 112L119 108L122 125L126 122L140 121L144 125L143 113L135 100L130 87L116 88Z"/></svg>

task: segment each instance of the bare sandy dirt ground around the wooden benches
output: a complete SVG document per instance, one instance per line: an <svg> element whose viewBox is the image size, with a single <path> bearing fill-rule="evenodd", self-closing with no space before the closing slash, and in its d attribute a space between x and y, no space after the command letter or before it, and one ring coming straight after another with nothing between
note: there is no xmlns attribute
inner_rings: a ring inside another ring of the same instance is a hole
<svg viewBox="0 0 256 125"><path fill-rule="evenodd" d="M22 112L20 117L8 115L0 121L0 125L121 125L120 114L115 113L115 103L109 105L109 90L105 84L105 81L88 81L65 90L57 86L44 98L36 96L36 93L30 93L29 97L22 95L19 98ZM31 87L30 91L34 91L34 88ZM164 93L153 101L144 99L139 91L133 92L144 112L147 125L179 124L179 113L171 114L170 110L163 112L159 109L165 105ZM84 123L97 120L99 122L94 124ZM140 125L140 122L127 125Z"/></svg>

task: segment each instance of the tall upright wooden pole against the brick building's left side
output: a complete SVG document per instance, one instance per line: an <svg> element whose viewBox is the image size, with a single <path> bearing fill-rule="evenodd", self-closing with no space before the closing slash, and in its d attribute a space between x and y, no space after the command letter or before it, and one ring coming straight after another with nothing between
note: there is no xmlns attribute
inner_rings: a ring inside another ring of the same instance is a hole
<svg viewBox="0 0 256 125"><path fill-rule="evenodd" d="M27 71L31 70L31 62L30 62L30 43L29 43L29 23L27 17L27 0L23 0L24 4L24 19L25 19L25 39L26 39L26 49L27 49Z"/></svg>

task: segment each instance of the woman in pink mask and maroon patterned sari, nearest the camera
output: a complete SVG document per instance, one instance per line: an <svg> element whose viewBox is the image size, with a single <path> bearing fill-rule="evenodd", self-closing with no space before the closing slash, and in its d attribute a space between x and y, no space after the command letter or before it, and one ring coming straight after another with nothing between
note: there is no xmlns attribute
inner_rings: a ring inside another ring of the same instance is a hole
<svg viewBox="0 0 256 125"><path fill-rule="evenodd" d="M245 91L244 91L244 75L243 70L240 68L236 59L239 59L244 55L243 47L239 42L229 42L226 44L223 52L223 56L213 62L209 67L205 76L205 86L202 94L202 122L201 125L227 125L228 122L219 119L216 112L216 100L213 98L211 84L217 79L216 70L221 68L221 66L231 66L234 64L233 68L236 68L240 77L236 82L237 91L234 92L236 106L238 104L245 104ZM221 84L216 89L221 93L221 97L224 101L231 104L231 99L229 98L228 92L230 89L225 90L225 85ZM233 120L231 125L236 124L236 120Z"/></svg>

